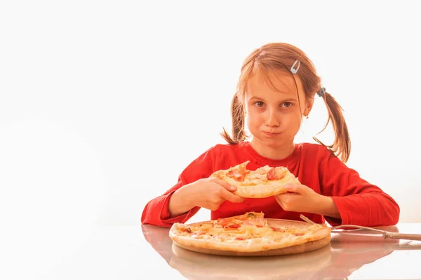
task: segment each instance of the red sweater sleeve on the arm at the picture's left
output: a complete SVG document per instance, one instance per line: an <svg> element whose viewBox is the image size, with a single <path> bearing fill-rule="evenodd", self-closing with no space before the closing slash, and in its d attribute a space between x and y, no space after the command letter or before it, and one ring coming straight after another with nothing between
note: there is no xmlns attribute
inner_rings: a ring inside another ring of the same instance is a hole
<svg viewBox="0 0 421 280"><path fill-rule="evenodd" d="M171 195L173 195L176 190L199 179L207 178L213 173L213 150L214 148L210 148L208 151L200 155L199 158L196 158L196 160L190 163L182 171L178 178L178 182L171 189L167 190L166 193L163 193L163 195L155 197L146 204L140 218L140 222L142 224L158 225L170 228L173 223L185 223L199 211L200 207L194 207L185 214L170 218L168 204L170 202Z"/></svg>

